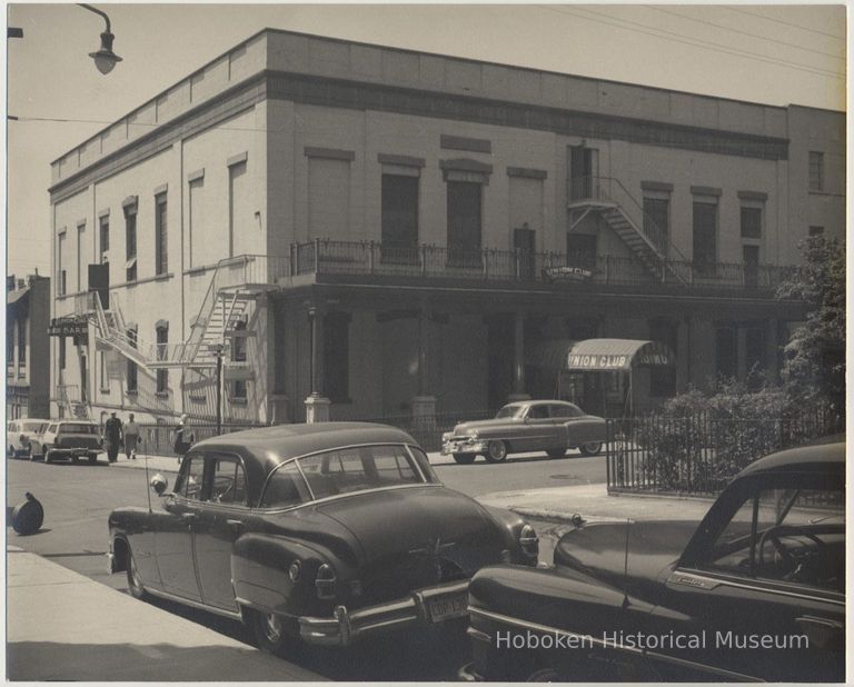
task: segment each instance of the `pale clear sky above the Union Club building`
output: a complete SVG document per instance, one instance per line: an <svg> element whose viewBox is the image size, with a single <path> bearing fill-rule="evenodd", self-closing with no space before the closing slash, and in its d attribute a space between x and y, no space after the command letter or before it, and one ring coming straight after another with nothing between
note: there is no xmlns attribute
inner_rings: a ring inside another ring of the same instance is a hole
<svg viewBox="0 0 854 687"><path fill-rule="evenodd" d="M50 162L265 27L785 106L845 109L843 4L9 3L8 273L49 273Z"/></svg>

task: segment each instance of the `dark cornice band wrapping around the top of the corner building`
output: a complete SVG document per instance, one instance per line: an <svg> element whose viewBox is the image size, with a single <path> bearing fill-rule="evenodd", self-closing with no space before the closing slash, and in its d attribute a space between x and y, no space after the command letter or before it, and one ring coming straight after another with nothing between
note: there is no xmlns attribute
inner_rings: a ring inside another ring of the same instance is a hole
<svg viewBox="0 0 854 687"><path fill-rule="evenodd" d="M616 139L633 143L767 160L785 160L784 138L704 129L614 114L474 98L440 91L357 82L281 71L261 71L207 100L49 188L58 202L167 150L175 141L239 114L265 99L352 110L374 110L450 121L547 131L560 136Z"/></svg>

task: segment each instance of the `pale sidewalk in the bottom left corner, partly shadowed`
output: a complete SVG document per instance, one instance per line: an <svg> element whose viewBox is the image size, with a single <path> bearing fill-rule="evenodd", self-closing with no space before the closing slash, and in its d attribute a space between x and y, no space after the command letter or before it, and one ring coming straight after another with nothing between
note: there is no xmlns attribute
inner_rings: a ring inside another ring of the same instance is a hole
<svg viewBox="0 0 854 687"><path fill-rule="evenodd" d="M7 561L9 680L324 679L18 547Z"/></svg>

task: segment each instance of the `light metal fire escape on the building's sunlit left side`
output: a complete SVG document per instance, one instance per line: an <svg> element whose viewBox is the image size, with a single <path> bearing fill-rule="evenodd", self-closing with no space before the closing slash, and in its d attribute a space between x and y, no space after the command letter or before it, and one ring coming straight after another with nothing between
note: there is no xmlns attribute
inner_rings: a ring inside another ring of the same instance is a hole
<svg viewBox="0 0 854 687"><path fill-rule="evenodd" d="M239 322L252 321L250 315L258 295L278 288L255 278L252 272L258 266L250 269L250 263L261 259L261 256L242 256L220 260L186 341L146 342L128 329L115 296L110 298L110 308L103 309L97 295L91 295L90 317L95 320L96 335L99 341L149 370L183 368L202 375L210 372L217 366L217 351L225 360L229 359L229 333Z"/></svg>

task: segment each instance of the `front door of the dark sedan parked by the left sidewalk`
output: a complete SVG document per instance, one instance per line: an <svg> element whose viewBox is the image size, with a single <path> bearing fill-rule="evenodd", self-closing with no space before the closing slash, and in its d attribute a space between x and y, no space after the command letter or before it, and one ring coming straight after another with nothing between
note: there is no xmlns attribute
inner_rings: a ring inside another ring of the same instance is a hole
<svg viewBox="0 0 854 687"><path fill-rule="evenodd" d="M203 497L203 476L205 457L187 454L176 479L175 492L165 497L155 535L163 591L195 601L201 600L192 547Z"/></svg>

